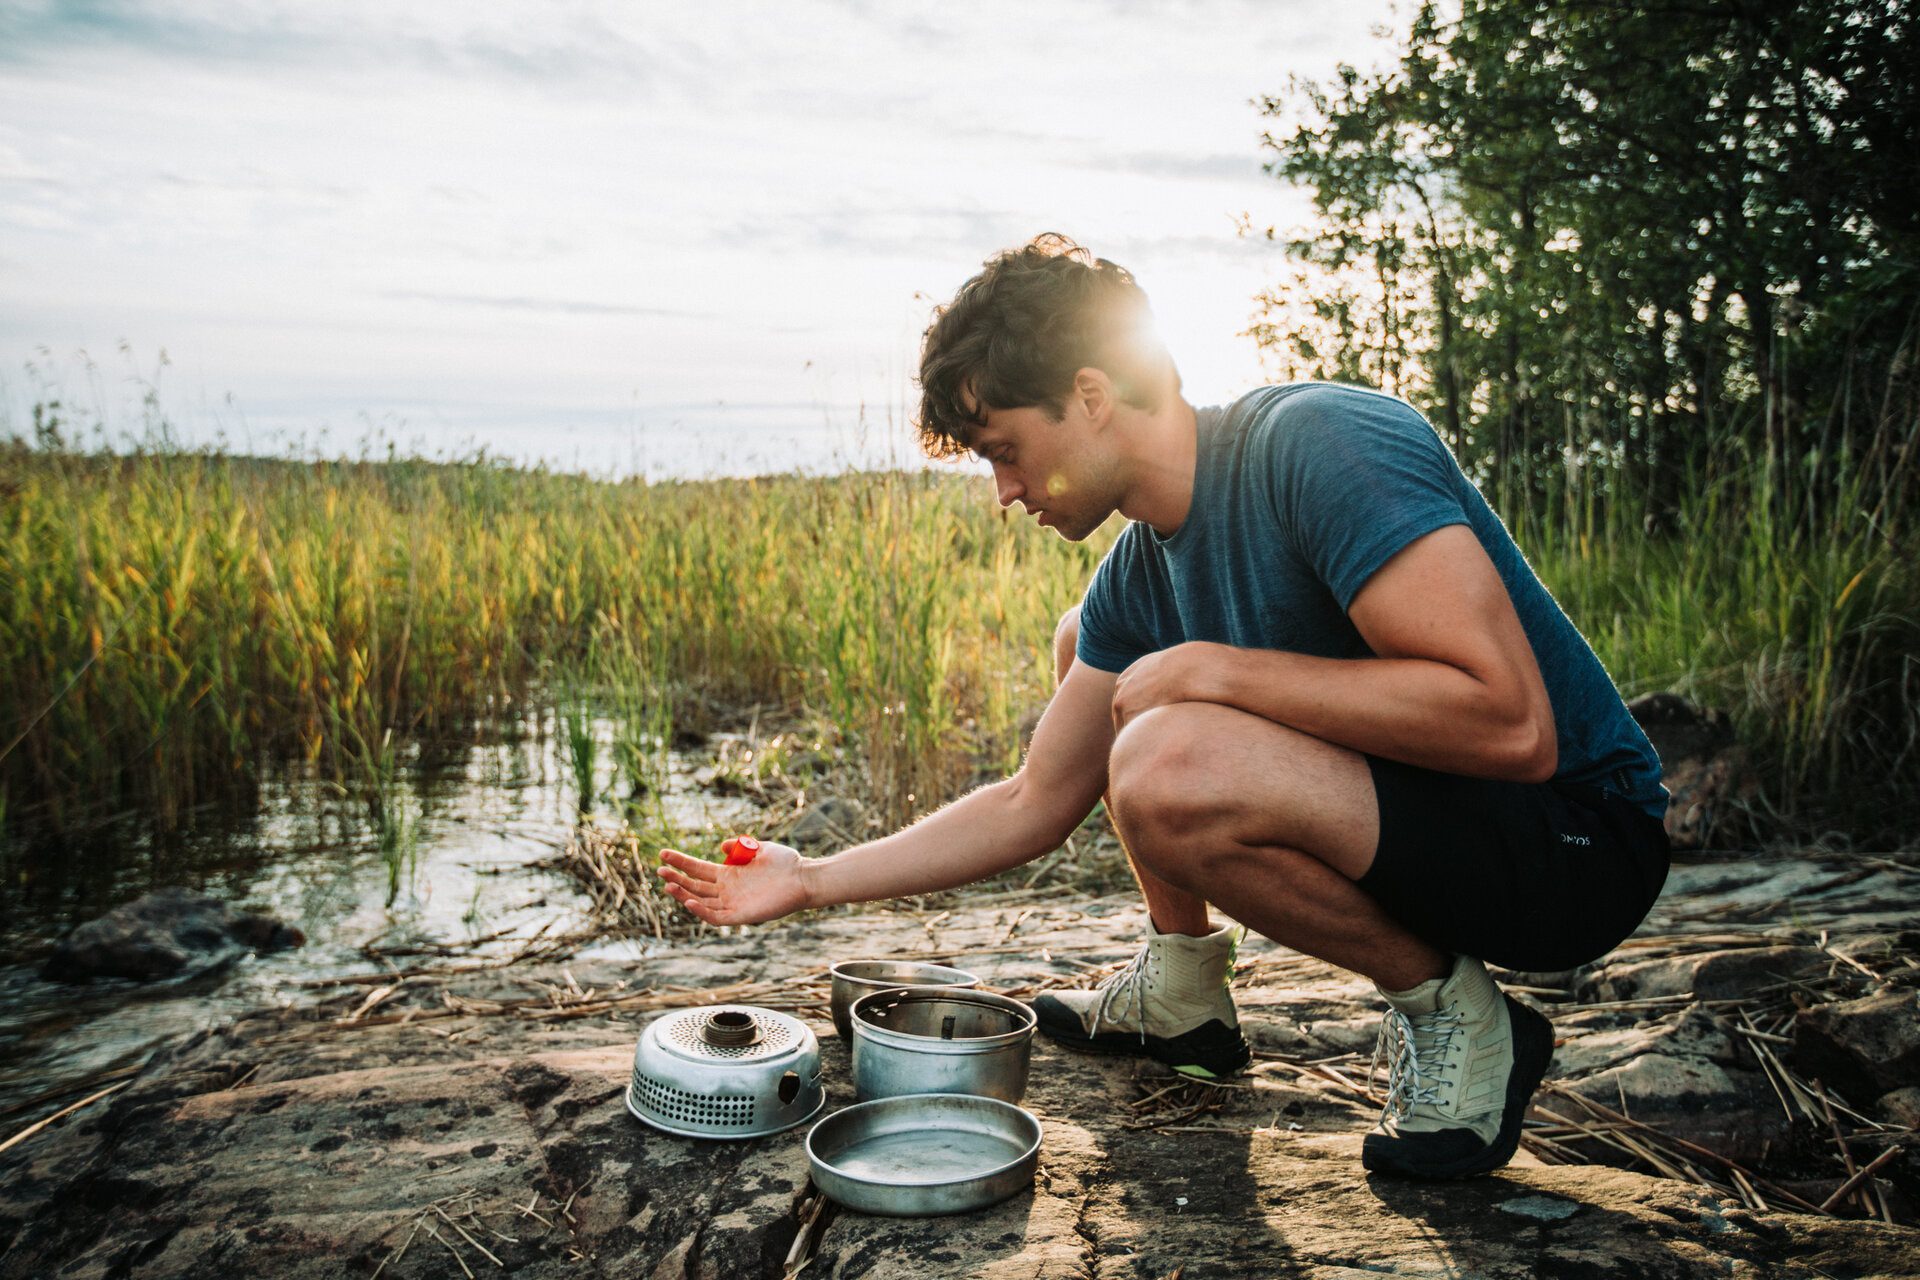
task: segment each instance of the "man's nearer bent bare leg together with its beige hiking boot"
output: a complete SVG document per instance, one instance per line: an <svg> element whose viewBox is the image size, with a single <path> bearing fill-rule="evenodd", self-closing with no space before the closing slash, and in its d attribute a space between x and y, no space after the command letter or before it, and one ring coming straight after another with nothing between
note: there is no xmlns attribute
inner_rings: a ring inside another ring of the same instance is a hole
<svg viewBox="0 0 1920 1280"><path fill-rule="evenodd" d="M1361 1146L1367 1169L1463 1178L1513 1157L1553 1027L1478 960L1417 938L1359 889L1380 841L1365 756L1231 706L1177 702L1121 729L1108 787L1127 848L1154 875L1380 988L1392 1071Z"/></svg>

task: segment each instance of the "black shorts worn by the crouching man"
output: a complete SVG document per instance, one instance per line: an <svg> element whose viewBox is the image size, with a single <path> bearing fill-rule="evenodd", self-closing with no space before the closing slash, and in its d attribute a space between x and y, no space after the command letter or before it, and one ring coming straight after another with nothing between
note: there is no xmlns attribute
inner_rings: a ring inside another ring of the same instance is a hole
<svg viewBox="0 0 1920 1280"><path fill-rule="evenodd" d="M1605 787L1367 764L1380 846L1359 887L1442 950L1572 969L1638 929L1667 883L1661 819Z"/></svg>

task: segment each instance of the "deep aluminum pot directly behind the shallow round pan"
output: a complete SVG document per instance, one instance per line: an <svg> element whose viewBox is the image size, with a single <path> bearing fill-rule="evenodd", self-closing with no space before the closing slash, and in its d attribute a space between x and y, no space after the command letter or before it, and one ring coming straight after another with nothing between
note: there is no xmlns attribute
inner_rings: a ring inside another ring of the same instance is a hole
<svg viewBox="0 0 1920 1280"><path fill-rule="evenodd" d="M973 1094L1020 1102L1033 1009L985 990L902 986L852 1002L852 1088L862 1102Z"/></svg>

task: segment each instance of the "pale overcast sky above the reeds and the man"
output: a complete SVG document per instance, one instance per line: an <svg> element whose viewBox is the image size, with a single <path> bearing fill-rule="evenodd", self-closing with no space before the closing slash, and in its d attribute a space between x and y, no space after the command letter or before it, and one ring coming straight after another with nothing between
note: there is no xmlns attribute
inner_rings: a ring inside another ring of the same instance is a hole
<svg viewBox="0 0 1920 1280"><path fill-rule="evenodd" d="M1250 100L1388 6L0 0L0 428L157 372L259 451L908 461L927 311L1041 230L1227 399L1279 274L1235 217L1306 217Z"/></svg>

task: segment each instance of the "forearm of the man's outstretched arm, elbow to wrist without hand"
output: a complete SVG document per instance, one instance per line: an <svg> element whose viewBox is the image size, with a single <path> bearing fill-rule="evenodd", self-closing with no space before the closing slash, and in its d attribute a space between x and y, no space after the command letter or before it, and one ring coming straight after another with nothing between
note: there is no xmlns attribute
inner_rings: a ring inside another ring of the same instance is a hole
<svg viewBox="0 0 1920 1280"><path fill-rule="evenodd" d="M1079 819L1039 804L1027 789L1029 779L1016 775L879 841L808 858L801 864L808 906L956 889L1033 862L1058 848Z"/></svg>

